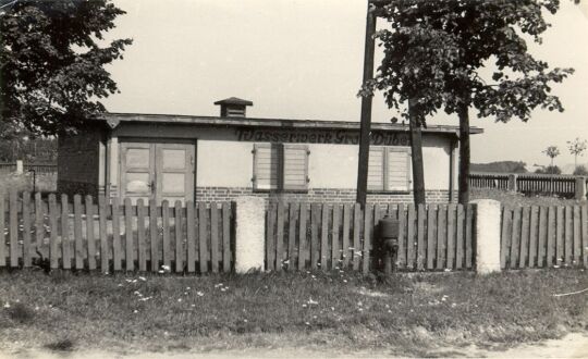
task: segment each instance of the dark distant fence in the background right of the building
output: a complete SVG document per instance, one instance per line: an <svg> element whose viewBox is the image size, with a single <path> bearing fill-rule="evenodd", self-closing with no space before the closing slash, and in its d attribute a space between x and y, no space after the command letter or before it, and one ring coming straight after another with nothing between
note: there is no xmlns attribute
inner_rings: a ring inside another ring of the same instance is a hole
<svg viewBox="0 0 588 359"><path fill-rule="evenodd" d="M525 195L555 195L559 197L586 198L587 177L551 174L471 173L470 188L502 189Z"/></svg>

